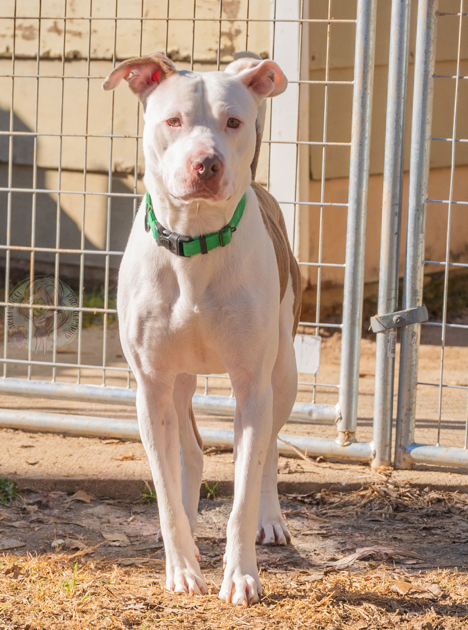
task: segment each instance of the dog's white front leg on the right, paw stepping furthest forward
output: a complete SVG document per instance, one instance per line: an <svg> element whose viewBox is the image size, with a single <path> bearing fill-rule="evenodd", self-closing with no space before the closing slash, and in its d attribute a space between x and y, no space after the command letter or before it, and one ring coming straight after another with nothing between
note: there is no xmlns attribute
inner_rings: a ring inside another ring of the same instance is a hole
<svg viewBox="0 0 468 630"><path fill-rule="evenodd" d="M233 377L236 392L234 419L234 504L227 527L225 575L220 599L233 604L258 602L262 594L255 536L260 485L272 432L271 376L252 374L241 382Z"/></svg>

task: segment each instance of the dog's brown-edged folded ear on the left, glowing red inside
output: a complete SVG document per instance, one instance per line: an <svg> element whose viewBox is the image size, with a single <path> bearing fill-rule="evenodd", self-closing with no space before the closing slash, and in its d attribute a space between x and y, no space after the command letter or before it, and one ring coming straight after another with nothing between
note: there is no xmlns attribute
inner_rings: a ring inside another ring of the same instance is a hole
<svg viewBox="0 0 468 630"><path fill-rule="evenodd" d="M115 89L122 79L128 81L131 91L140 101L145 101L161 81L175 74L177 70L170 59L155 52L148 57L133 57L121 62L104 79L103 89Z"/></svg>

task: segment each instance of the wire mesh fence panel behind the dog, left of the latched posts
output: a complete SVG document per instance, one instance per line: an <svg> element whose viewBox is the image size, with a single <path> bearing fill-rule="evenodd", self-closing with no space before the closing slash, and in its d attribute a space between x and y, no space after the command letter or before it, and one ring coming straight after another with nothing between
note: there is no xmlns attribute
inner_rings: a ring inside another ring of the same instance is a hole
<svg viewBox="0 0 468 630"><path fill-rule="evenodd" d="M375 2L326 0L310 11L303 0L8 0L1 10L3 391L31 396L42 388L52 397L98 400L101 394L86 386L101 385L114 392L107 397L114 402L133 401L135 381L118 341L115 287L144 192L143 121L130 93L104 94L102 78L116 62L155 50L179 69L196 71L223 70L235 52L255 50L274 58L289 81L285 95L267 108L257 180L279 201L304 285L314 293L301 332L343 332L344 356L352 357L341 377L338 370L325 372L325 378L300 375L298 403L306 405L299 416L338 421L342 443L353 442L360 316L343 326L340 307L330 317L323 287L342 284L346 273L344 251L328 251L333 212L343 227L348 221L348 260L362 260L350 269L345 309L362 309L364 244L356 236L365 225ZM311 66L312 37L320 44ZM344 117L337 119L333 103L342 105ZM351 167L351 200L347 187L338 195L327 189L337 163L345 175ZM64 312L74 314L73 326ZM57 389L47 382L64 385ZM213 394L233 393L227 375L199 375L198 392L205 396L201 407L217 412ZM232 413L228 398L223 409ZM369 459L369 444L362 452Z"/></svg>

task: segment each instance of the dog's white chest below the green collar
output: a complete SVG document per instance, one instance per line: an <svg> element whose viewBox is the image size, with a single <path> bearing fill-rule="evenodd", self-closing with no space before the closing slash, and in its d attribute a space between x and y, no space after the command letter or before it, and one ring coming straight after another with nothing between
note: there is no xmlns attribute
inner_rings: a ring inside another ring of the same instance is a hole
<svg viewBox="0 0 468 630"><path fill-rule="evenodd" d="M254 206L250 211L247 206L228 246L189 259L142 238L142 218L137 217L123 257L117 300L131 364L148 372L220 373L234 355L248 362L265 331L274 340L278 265Z"/></svg>

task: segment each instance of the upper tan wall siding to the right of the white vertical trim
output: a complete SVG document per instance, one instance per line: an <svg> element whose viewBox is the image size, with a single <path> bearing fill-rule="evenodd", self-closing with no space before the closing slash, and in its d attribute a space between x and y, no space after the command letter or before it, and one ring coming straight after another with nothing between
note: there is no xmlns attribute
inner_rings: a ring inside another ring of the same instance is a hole
<svg viewBox="0 0 468 630"><path fill-rule="evenodd" d="M408 72L408 105L406 108L406 151L404 168L409 167L411 134L411 96L414 77L416 6L412 3L410 66ZM440 10L459 11L458 0L441 0ZM314 0L312 5L315 16L326 15L327 0ZM442 8L443 6L443 8ZM333 2L333 16L336 18L355 18L355 3L348 0ZM374 73L374 99L372 104L371 165L372 174L382 173L384 168L385 115L387 102L388 50L391 3L377 3L376 31L376 68ZM437 51L435 74L453 75L456 72L457 59L457 16L441 16L437 24ZM332 25L330 29L330 80L352 81L354 66L353 24ZM312 24L310 27L309 76L313 81L325 78L326 67L326 24ZM468 75L468 31L463 31L461 46L460 74ZM460 81L459 118L457 137L468 138L468 85ZM432 135L437 137L452 136L454 110L454 79L437 79L434 88ZM351 137L352 86L330 86L328 89L328 125L327 140L330 142L349 142ZM325 87L312 85L310 95L310 130L311 140L322 140L323 110ZM347 147L327 149L326 179L346 177L349 170L349 150ZM311 147L311 176L321 178L321 147ZM455 154L456 164L468 164L468 142L459 143ZM431 168L450 165L450 147L448 142L433 143Z"/></svg>

